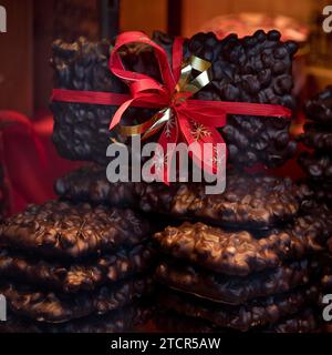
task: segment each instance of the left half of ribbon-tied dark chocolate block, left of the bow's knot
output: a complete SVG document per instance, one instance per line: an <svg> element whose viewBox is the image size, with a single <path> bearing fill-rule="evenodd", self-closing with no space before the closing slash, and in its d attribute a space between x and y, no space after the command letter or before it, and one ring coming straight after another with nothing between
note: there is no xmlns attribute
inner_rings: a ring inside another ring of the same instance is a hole
<svg viewBox="0 0 332 355"><path fill-rule="evenodd" d="M90 42L80 38L73 43L56 40L53 45L51 64L54 70L54 87L58 89L128 93L127 87L108 69L111 43L106 40ZM138 51L141 51L138 49ZM148 53L136 55L127 50L125 61L129 68L142 71L149 68L151 74L157 71L153 57ZM149 62L149 64L148 64ZM116 106L52 102L54 114L53 143L60 155L71 160L95 161L105 163L110 138L121 142L126 140L115 131L110 132L110 120ZM155 111L128 109L126 120L139 123L137 116L149 118Z"/></svg>

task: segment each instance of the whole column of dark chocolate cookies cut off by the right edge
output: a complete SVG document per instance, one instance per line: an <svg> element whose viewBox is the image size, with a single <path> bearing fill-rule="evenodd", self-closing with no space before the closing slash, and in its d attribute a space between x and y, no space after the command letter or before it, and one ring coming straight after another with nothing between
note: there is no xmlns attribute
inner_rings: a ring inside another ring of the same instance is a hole
<svg viewBox="0 0 332 355"><path fill-rule="evenodd" d="M322 210L326 211L328 207L332 207L332 87L328 87L308 101L305 114L310 121L305 123L304 133L299 140L311 152L301 153L299 164L305 172L305 182L313 192L307 204L319 215ZM330 221L329 231L332 237L332 216ZM331 242L329 242L324 257L322 296L332 292L331 265ZM323 326L324 329L332 331L325 322Z"/></svg>

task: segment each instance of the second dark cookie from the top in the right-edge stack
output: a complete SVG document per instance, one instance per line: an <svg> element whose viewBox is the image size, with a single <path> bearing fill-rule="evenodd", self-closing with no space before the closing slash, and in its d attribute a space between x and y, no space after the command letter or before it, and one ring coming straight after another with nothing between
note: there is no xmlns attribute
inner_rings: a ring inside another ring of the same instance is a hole
<svg viewBox="0 0 332 355"><path fill-rule="evenodd" d="M332 126L329 130L326 126L308 123L299 140L309 148L332 152Z"/></svg>

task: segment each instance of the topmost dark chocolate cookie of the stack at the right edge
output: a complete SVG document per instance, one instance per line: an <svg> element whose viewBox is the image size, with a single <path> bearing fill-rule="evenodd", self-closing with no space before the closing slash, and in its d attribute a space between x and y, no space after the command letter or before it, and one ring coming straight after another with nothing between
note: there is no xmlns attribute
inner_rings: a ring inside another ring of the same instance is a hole
<svg viewBox="0 0 332 355"><path fill-rule="evenodd" d="M332 124L332 85L307 102L305 114L318 123Z"/></svg>

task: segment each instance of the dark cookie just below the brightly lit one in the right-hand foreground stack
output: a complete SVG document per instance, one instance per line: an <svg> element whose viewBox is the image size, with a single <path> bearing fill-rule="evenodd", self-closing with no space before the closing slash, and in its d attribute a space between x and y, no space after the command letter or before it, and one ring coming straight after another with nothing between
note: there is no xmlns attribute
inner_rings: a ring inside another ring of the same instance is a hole
<svg viewBox="0 0 332 355"><path fill-rule="evenodd" d="M156 281L198 297L237 305L305 285L318 273L319 266L319 263L304 260L237 277L167 260L157 267Z"/></svg>

